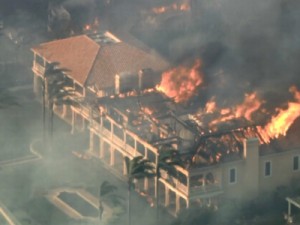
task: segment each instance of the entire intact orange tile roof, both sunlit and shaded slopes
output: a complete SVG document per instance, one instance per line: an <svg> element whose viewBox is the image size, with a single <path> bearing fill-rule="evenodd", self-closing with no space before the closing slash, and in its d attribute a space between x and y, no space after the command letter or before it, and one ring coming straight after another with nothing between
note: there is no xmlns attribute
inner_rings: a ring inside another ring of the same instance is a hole
<svg viewBox="0 0 300 225"><path fill-rule="evenodd" d="M86 35L40 44L32 51L69 69L69 76L82 86L96 86L100 90L114 87L116 74L137 73L145 68L163 71L168 67L168 63L153 52L124 42L99 46Z"/></svg>

